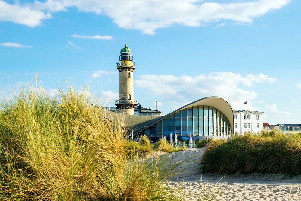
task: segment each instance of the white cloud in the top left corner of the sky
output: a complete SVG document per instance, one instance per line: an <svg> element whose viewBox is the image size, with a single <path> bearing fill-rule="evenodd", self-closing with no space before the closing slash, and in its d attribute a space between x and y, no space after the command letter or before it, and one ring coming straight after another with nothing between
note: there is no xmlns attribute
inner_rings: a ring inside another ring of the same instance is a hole
<svg viewBox="0 0 301 201"><path fill-rule="evenodd" d="M0 0L0 21L11 21L35 27L42 23L42 20L51 18L51 14L41 10L33 10L28 5L8 4Z"/></svg>

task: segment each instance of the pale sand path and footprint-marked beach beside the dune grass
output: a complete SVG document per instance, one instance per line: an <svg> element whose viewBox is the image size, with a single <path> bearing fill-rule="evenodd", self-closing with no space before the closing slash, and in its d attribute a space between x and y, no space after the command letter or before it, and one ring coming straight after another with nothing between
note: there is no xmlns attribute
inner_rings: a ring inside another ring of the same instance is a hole
<svg viewBox="0 0 301 201"><path fill-rule="evenodd" d="M200 174L200 161L205 148L169 154L169 164L183 161L176 174L163 184L175 195L189 195L188 200L204 200L205 196L218 196L217 200L300 200L301 175L285 174L213 175ZM167 164L167 165L169 165ZM213 193L216 192L216 193Z"/></svg>

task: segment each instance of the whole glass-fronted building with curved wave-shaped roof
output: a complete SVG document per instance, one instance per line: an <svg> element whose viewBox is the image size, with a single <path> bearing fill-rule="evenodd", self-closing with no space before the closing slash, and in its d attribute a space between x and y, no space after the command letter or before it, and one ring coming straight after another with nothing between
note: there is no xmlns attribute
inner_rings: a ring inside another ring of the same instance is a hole
<svg viewBox="0 0 301 201"><path fill-rule="evenodd" d="M170 133L177 138L188 140L205 139L206 136L226 138L233 134L233 109L222 97L205 97L187 104L168 115L161 117L136 116L107 112L107 118L122 122L128 132L133 130L134 136L146 135L157 140Z"/></svg>

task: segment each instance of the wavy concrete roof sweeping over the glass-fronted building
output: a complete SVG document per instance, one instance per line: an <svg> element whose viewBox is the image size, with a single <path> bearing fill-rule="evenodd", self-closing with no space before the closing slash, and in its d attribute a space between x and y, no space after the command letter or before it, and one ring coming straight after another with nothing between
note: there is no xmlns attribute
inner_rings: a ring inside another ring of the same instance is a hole
<svg viewBox="0 0 301 201"><path fill-rule="evenodd" d="M234 130L233 109L225 98L219 96L210 96L210 97L199 99L161 117L129 115L129 114L113 113L109 111L105 112L105 117L110 119L114 123L122 124L120 126L124 127L128 131L130 129L133 129L134 132L141 132L147 127L153 125L154 123L159 122L160 120L166 118L172 113L175 113L179 110L183 110L188 107L193 107L198 105L208 105L211 107L215 107L216 109L221 111L228 118L228 121L231 124L231 130L233 132Z"/></svg>

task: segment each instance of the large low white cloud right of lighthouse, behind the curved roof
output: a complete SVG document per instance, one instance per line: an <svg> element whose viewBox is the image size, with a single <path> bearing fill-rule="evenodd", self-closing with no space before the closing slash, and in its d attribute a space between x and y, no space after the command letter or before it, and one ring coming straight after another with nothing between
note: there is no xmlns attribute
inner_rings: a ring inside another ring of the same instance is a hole
<svg viewBox="0 0 301 201"><path fill-rule="evenodd" d="M138 80L134 81L134 84L135 87L147 88L151 94L166 98L173 105L185 105L203 97L221 96L231 102L233 109L244 107L243 103L246 100L248 100L248 109L252 109L252 102L249 100L254 99L257 93L249 90L249 87L274 81L277 79L263 74L242 76L231 72L212 72L194 77L141 75Z"/></svg>

